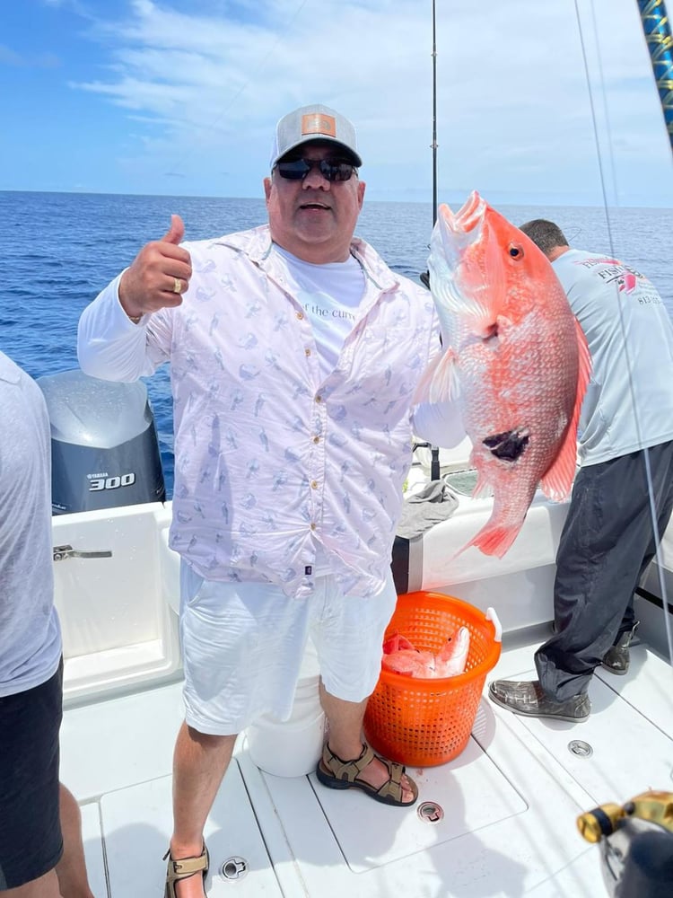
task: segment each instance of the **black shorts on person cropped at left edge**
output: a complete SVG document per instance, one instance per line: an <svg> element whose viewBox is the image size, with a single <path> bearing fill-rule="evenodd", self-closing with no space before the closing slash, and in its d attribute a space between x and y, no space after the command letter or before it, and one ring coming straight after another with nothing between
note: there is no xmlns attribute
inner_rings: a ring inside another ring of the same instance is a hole
<svg viewBox="0 0 673 898"><path fill-rule="evenodd" d="M0 698L0 892L30 883L63 854L58 731L63 662L34 689Z"/></svg>

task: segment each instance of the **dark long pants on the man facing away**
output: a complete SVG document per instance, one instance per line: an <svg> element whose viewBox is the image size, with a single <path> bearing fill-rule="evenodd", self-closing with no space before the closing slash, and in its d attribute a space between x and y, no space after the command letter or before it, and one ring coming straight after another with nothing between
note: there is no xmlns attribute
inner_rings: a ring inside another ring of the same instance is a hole
<svg viewBox="0 0 673 898"><path fill-rule="evenodd" d="M650 463L657 531L646 473ZM634 624L633 596L673 508L673 441L582 468L556 553L556 632L535 664L546 693L564 701Z"/></svg>

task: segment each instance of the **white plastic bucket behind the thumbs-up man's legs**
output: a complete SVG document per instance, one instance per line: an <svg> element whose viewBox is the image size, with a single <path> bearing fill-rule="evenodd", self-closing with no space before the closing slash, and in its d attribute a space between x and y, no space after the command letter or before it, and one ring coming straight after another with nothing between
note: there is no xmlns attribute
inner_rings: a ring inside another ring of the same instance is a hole
<svg viewBox="0 0 673 898"><path fill-rule="evenodd" d="M325 712L320 705L318 656L311 642L302 658L290 718L265 714L248 727L246 736L250 757L260 770L276 777L302 777L316 769Z"/></svg>

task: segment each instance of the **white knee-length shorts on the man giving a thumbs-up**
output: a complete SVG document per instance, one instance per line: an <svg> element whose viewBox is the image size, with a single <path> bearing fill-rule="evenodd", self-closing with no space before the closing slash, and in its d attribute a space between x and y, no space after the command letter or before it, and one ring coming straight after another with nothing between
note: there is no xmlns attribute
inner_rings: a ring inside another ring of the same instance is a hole
<svg viewBox="0 0 673 898"><path fill-rule="evenodd" d="M297 599L273 584L204 580L184 561L180 594L185 719L210 735L240 733L262 714L290 717L309 635L329 694L366 699L397 602L392 574L366 599L344 595L333 577Z"/></svg>

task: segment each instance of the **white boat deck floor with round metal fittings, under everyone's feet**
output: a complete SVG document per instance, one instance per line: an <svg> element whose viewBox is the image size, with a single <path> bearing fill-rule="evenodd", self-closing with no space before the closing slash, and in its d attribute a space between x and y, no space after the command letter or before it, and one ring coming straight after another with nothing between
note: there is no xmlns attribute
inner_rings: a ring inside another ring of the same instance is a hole
<svg viewBox="0 0 673 898"><path fill-rule="evenodd" d="M493 676L529 679L548 627L506 634ZM642 644L624 677L599 670L586 722L524 719L484 698L453 762L410 770L419 805L380 805L314 775L261 772L245 735L205 836L211 898L597 898L599 848L576 818L606 801L673 788L673 672ZM171 757L181 684L66 708L62 778L83 812L97 898L162 896L171 828ZM431 814L431 816L436 816Z"/></svg>

